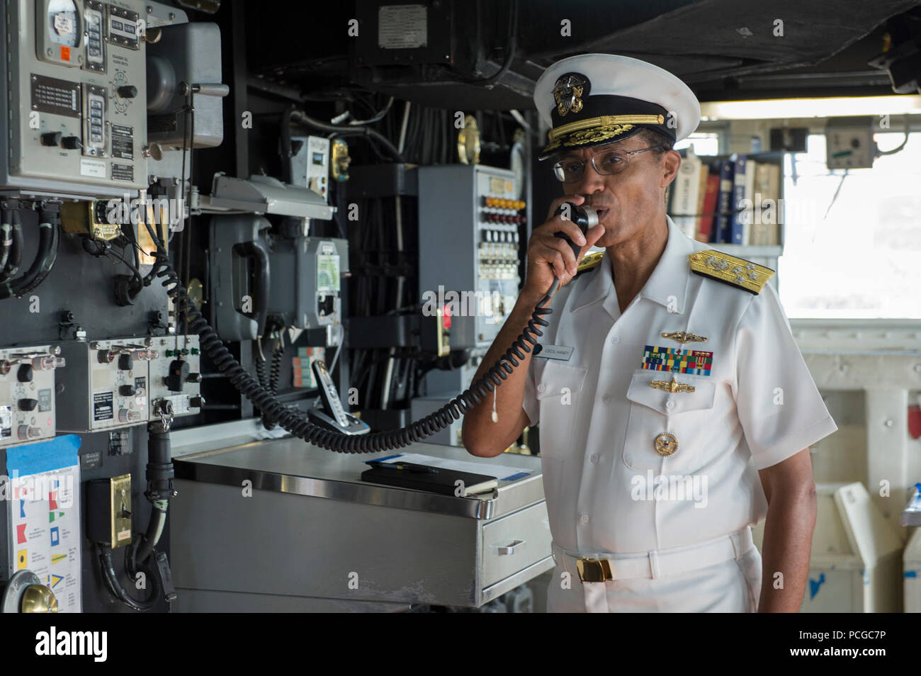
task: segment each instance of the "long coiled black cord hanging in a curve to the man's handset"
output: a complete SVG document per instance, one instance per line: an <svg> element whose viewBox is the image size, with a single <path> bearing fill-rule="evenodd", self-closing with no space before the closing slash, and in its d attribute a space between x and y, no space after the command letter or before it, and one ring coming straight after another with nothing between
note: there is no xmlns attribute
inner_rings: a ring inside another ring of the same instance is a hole
<svg viewBox="0 0 921 676"><path fill-rule="evenodd" d="M426 417L416 420L405 427L382 432L369 432L366 435L347 436L331 429L314 425L301 412L286 408L282 402L274 398L272 392L262 387L256 379L247 373L246 369L240 366L215 330L204 320L202 313L195 309L194 303L186 294L185 286L180 282L179 275L176 274L176 271L169 263L169 255L163 248L162 243L157 239L157 233L149 225L147 225L147 229L150 232L151 239L157 244L157 251L154 254L156 257L157 277L164 278L162 285L167 288L167 294L173 299L178 311L188 313L190 332L198 334L202 352L211 358L217 370L225 375L230 383L249 399L256 408L262 411L264 416L277 421L278 425L284 427L295 437L319 446L321 449L329 449L339 453L376 453L382 450L402 449L415 441L431 437L438 430L448 427L453 420L459 420L461 415L467 413L468 409L482 402L489 396L490 392L501 385L502 381L507 379L507 374L512 372L512 369L519 366L519 359L524 359L524 353L530 353L531 351L529 344L537 344L534 336L543 335L538 327L549 325L548 321L542 319L542 315L550 314L554 311L543 306L554 296L560 284L559 280L554 281L547 294L534 307L528 326L521 332L518 339L507 349L506 354L502 355L498 364L486 371L482 378L472 382L469 389L461 392L436 412L428 414Z"/></svg>

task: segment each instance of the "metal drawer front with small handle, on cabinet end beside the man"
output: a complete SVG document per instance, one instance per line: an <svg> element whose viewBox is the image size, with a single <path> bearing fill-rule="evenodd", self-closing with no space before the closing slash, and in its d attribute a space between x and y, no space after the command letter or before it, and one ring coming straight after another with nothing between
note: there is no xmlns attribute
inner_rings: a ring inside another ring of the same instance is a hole
<svg viewBox="0 0 921 676"><path fill-rule="evenodd" d="M550 520L543 501L483 526L483 589L550 556Z"/></svg>

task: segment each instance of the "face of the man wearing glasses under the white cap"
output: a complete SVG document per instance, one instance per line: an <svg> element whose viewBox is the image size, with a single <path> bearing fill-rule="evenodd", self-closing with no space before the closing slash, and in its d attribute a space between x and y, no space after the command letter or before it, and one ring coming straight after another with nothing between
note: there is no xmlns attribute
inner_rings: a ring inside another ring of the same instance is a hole
<svg viewBox="0 0 921 676"><path fill-rule="evenodd" d="M582 195L585 197L584 204L599 212L604 235L595 243L596 247L603 249L642 237L647 223L659 211L665 210L665 188L674 179L681 165L681 156L674 150L662 157L657 157L654 150L629 155L629 166L610 176L599 174L591 164L591 157L613 148L630 152L649 146L645 138L631 136L623 141L554 157L554 162L561 159L585 162L582 177L572 183L563 183L563 191L567 195Z"/></svg>

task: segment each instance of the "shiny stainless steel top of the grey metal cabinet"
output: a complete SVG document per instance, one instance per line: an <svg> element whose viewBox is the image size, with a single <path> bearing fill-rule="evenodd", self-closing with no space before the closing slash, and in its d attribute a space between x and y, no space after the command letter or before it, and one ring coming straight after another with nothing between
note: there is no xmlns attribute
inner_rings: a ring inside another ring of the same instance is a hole
<svg viewBox="0 0 921 676"><path fill-rule="evenodd" d="M532 473L517 481L500 481L495 492L486 494L489 497L437 495L361 481L361 472L367 470L367 460L379 460L399 450L367 454L333 453L300 439L286 437L183 456L175 460L176 476L231 486L251 481L253 488L263 491L418 509L471 519L493 519L543 499L539 458L512 453L503 453L495 459L476 458L464 449L437 444L414 444L403 450L476 462L483 465L484 474L492 473L490 462Z"/></svg>

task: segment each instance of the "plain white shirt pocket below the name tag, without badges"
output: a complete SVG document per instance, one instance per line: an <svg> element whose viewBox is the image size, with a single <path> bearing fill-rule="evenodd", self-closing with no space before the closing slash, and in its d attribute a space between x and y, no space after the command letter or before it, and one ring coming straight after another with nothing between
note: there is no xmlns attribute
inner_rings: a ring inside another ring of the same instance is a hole
<svg viewBox="0 0 921 676"><path fill-rule="evenodd" d="M586 370L548 359L541 371L535 372L535 396L541 406L542 456L561 458L572 451L573 425Z"/></svg>

